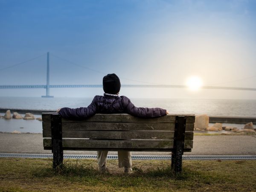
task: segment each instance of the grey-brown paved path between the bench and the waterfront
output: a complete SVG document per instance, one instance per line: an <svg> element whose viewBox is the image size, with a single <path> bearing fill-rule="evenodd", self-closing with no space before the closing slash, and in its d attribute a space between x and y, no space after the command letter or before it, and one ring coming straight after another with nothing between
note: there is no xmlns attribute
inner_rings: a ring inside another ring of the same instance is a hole
<svg viewBox="0 0 256 192"><path fill-rule="evenodd" d="M42 134L0 133L0 153L51 153L43 148ZM64 154L96 154L96 151L64 151ZM110 151L109 154L116 154ZM169 152L133 152L133 154L170 154ZM212 135L194 136L195 155L256 155L256 136Z"/></svg>

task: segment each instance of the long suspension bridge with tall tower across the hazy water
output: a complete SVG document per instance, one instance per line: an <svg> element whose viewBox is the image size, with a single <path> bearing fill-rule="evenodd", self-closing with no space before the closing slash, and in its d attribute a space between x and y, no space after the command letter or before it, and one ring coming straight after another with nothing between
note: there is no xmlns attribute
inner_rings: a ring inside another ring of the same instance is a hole
<svg viewBox="0 0 256 192"><path fill-rule="evenodd" d="M29 61L31 61L31 60L29 60ZM9 67L6 67L6 68L9 68ZM87 68L87 69L89 69L89 68ZM0 85L0 89L24 89L24 88L25 89L29 89L29 88L46 89L46 95L42 96L42 97L53 97L53 96L50 96L50 94L49 94L50 93L50 88L102 87L102 84L63 84L63 85L52 85L52 84L50 84L49 77L50 77L50 63L49 63L49 52L47 52L47 78L46 78L46 84L41 84L41 85ZM188 88L188 86L185 86L185 85L174 85L174 84L122 84L122 87ZM200 88L201 89L250 90L250 91L256 91L256 88L249 88L249 87L202 86Z"/></svg>

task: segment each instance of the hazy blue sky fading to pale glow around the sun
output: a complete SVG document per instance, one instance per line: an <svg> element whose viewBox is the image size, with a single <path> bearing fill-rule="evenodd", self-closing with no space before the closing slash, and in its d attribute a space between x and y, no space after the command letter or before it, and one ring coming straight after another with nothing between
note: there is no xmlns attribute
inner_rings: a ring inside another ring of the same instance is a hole
<svg viewBox="0 0 256 192"><path fill-rule="evenodd" d="M204 86L256 88L256 0L0 0L0 85L46 84L47 52L50 84L102 84L116 73L121 84L185 85L197 76ZM44 94L0 89L0 96ZM121 88L120 95L255 99L256 91Z"/></svg>

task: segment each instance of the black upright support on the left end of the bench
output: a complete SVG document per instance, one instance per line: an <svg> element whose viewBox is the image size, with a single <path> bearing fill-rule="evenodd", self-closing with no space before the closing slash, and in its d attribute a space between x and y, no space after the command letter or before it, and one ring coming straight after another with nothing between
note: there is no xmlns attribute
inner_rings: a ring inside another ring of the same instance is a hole
<svg viewBox="0 0 256 192"><path fill-rule="evenodd" d="M61 166L63 163L63 148L62 148L62 123L61 116L58 113L51 114L51 132L52 132L52 153L53 153L53 168Z"/></svg>

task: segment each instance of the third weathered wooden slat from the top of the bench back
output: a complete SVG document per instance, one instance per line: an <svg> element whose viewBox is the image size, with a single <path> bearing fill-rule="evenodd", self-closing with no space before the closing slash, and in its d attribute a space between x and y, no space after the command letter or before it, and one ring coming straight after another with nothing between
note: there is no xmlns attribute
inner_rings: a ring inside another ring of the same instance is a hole
<svg viewBox="0 0 256 192"><path fill-rule="evenodd" d="M186 131L185 140L193 140L193 131ZM52 137L51 130L44 130L43 137ZM90 139L153 139L172 140L174 131L81 131L62 130L62 138L90 138Z"/></svg>

